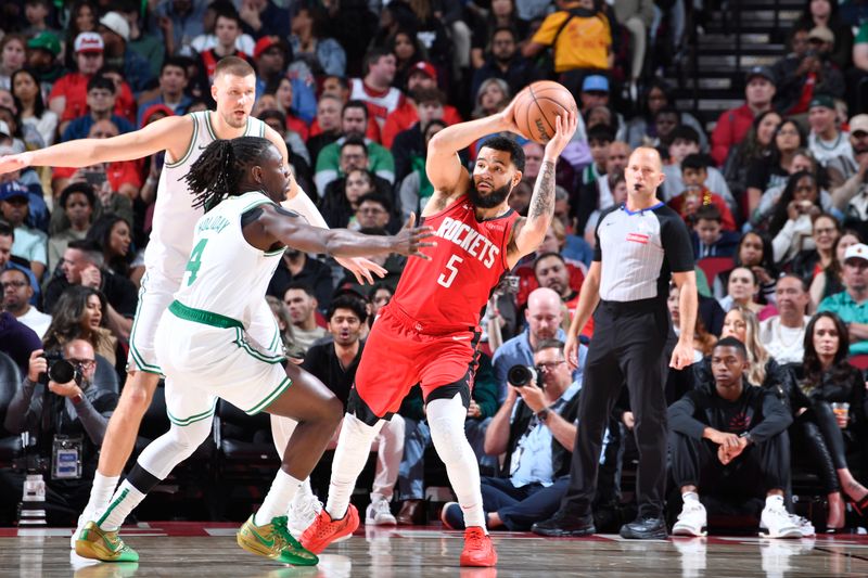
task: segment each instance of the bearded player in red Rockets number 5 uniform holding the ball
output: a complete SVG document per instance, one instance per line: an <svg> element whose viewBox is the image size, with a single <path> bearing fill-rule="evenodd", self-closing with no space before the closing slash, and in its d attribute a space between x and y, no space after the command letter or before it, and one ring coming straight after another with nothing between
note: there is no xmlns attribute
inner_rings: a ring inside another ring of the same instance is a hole
<svg viewBox="0 0 868 578"><path fill-rule="evenodd" d="M513 110L514 102L499 114L445 128L429 144L434 195L422 221L439 239L424 251L427 259L407 264L395 296L371 329L334 453L328 503L302 535L311 552L358 527L349 496L371 441L420 383L434 447L464 514L461 565L497 562L485 528L478 463L464 437L480 314L500 277L546 236L554 214L554 165L577 123L573 114L558 118L527 217L519 217L507 204L524 169L524 152L514 140L486 140L472 176L458 157L458 151L487 134L518 133Z"/></svg>

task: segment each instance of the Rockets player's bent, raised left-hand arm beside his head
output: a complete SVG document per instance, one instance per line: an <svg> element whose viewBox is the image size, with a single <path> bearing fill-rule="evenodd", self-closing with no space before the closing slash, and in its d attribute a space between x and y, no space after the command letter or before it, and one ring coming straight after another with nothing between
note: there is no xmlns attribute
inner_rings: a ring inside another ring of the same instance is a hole
<svg viewBox="0 0 868 578"><path fill-rule="evenodd" d="M498 114L446 127L431 139L425 171L436 191L451 193L467 189L469 176L461 165L458 151L467 149L486 134L503 131L519 133L513 113L514 103L515 101L511 102Z"/></svg>

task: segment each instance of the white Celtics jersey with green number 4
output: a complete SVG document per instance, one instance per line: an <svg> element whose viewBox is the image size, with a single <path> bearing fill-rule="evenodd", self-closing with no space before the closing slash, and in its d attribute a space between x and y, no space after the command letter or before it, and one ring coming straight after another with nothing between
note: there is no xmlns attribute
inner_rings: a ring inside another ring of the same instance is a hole
<svg viewBox="0 0 868 578"><path fill-rule="evenodd" d="M231 196L199 219L193 251L175 298L187 307L218 313L250 327L253 311L265 303L265 292L283 248L263 252L244 239L241 216L271 204L260 192Z"/></svg>

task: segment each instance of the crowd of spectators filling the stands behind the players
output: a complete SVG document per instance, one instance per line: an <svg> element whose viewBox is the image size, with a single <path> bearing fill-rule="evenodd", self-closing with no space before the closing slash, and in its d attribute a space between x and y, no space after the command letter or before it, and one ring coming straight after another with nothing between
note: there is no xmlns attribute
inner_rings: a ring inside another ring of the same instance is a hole
<svg viewBox="0 0 868 578"><path fill-rule="evenodd" d="M717 339L728 338L727 351L739 348L733 343L744 347L744 391L762 390L744 403L762 413L771 407L766 397L774 398L774 434L791 439L776 442L762 464L774 480L736 485L736 493L789 492L791 452L792 467L818 476L826 522L839 528L846 501L860 512L868 505L857 481L868 481L868 396L854 369L868 367L868 8L806 1L781 30L787 53L774 66L750 68L743 104L709 131L658 77L666 55L682 51L702 4L10 0L0 11L0 155L111 138L207 110L214 67L234 55L257 74L253 115L284 137L296 179L329 226L394 232L432 195L425 155L438 130L499 112L532 81L560 80L576 97L580 119L557 166L557 218L482 318L465 429L483 466L489 527L527 529L554 512L564 491L586 348L571 373L559 339L600 215L624 203L629 155L650 145L664 162L659 196L691 230L701 295L697 362L673 371L666 389L672 448L681 458L673 479L695 485L698 465L684 452L745 431L731 403L719 414L727 420L703 422L709 408L735 399L716 389L710 361ZM526 214L542 147L513 137L526 170L510 206ZM484 142L461 152L469 167ZM0 176L0 350L23 380L4 412L8 433L39 427L33 416L41 411L35 382L42 365L35 350L64 350L91 372L93 360L104 359L123 386L164 162L161 154ZM331 259L288 251L268 288L290 356L344 401L368 329L405 259L379 262L387 274L365 286ZM676 327L677 291L668 300ZM591 321L583 343L592 334ZM535 365L539 382L510 384L516 364ZM68 434L69 422L78 424L73 429L88 436L86 453L99 447L116 402L116 395L89 393L91 382L86 372L78 391L54 391L68 411L49 429ZM540 419L541 410L548 416ZM720 436L698 439L697 423ZM376 450L368 517L419 523L431 444L421 394L408 397L392 424ZM623 400L601 455L600 475L611 476L600 484L601 511L622 498L633 425ZM92 461L86 455L82 475L92 475ZM20 488L20 476L7 474L3 483ZM55 491L74 493L66 497L73 511L86 493L67 486ZM700 487L703 499L706 490L726 497L733 487L716 479ZM5 502L20 489L4 496L0 522L10 523ZM462 524L455 506L444 512L449 525Z"/></svg>

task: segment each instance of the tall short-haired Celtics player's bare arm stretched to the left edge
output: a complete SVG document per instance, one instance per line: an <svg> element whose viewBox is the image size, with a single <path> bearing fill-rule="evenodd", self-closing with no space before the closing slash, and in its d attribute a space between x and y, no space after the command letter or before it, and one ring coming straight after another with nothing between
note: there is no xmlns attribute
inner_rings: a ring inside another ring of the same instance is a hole
<svg viewBox="0 0 868 578"><path fill-rule="evenodd" d="M97 163L135 160L159 151L187 150L192 120L184 116L169 116L146 127L112 137L111 139L79 139L62 142L37 151L0 156L0 174L26 167L89 167ZM179 138L182 134L183 138Z"/></svg>

